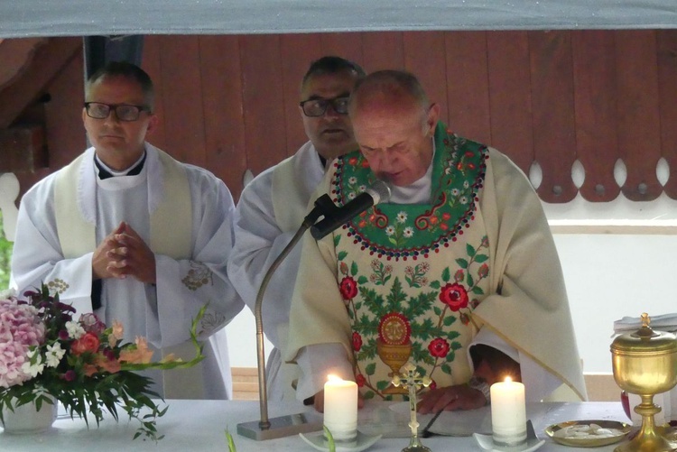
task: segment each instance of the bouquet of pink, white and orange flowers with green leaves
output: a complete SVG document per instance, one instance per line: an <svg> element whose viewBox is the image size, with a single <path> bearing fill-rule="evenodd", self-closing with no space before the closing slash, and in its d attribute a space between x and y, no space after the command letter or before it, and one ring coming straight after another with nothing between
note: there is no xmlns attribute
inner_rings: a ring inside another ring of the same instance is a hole
<svg viewBox="0 0 677 452"><path fill-rule="evenodd" d="M172 356L152 363L153 351L144 337L123 343L123 326L114 321L107 327L94 314L75 319L75 309L51 296L46 285L41 291L27 291L28 300L14 296L0 297L0 420L3 409L26 403L60 401L71 417L85 420L91 413L99 422L107 410L118 420L117 408L126 411L130 420L141 424L134 438L144 435L162 439L155 420L166 412L152 398L161 399L150 389L152 380L137 371L176 369L199 363L204 356L193 319L190 338L196 356L182 361ZM53 399L52 399L53 398Z"/></svg>

